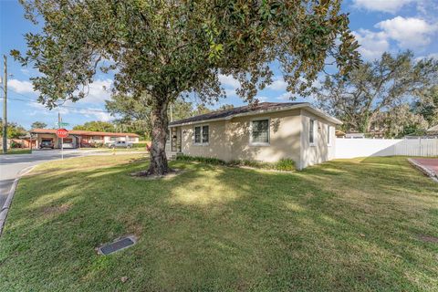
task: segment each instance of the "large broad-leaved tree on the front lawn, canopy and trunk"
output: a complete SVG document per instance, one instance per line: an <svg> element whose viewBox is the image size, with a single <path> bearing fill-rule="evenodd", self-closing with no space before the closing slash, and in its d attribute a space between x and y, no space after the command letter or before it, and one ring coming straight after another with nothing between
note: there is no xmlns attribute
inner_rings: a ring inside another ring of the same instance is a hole
<svg viewBox="0 0 438 292"><path fill-rule="evenodd" d="M28 50L12 55L33 63L39 101L48 108L86 96L99 69L114 70L115 93L147 95L151 107L151 164L169 171L165 143L168 106L196 93L224 97L219 74L241 82L251 101L281 66L288 90L306 89L328 56L341 73L357 64L357 42L341 0L21 0L26 17L42 23L26 34ZM100 68L103 60L110 66ZM304 82L303 80L306 80Z"/></svg>

